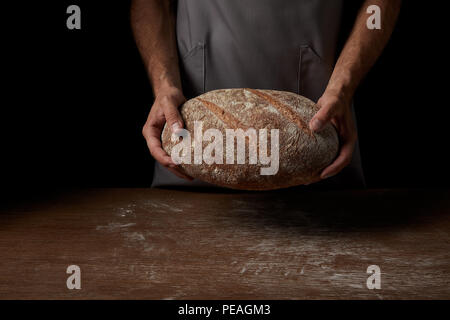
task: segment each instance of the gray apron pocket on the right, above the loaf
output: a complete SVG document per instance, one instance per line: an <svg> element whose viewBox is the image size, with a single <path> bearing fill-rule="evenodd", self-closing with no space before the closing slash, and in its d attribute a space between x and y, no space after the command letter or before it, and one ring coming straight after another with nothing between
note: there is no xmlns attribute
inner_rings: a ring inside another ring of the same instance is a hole
<svg viewBox="0 0 450 320"><path fill-rule="evenodd" d="M322 96L332 68L308 45L300 47L298 93L314 102Z"/></svg>

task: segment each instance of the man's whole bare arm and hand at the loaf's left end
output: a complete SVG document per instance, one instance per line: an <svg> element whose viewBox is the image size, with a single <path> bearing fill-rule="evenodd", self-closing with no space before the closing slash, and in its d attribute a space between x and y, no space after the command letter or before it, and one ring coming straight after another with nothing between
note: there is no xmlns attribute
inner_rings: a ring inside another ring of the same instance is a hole
<svg viewBox="0 0 450 320"><path fill-rule="evenodd" d="M173 1L168 0L133 0L131 3L131 26L155 93L155 102L142 133L156 161L178 177L192 180L161 146L166 121L171 132L183 127L178 107L186 100L181 92L172 5Z"/></svg>

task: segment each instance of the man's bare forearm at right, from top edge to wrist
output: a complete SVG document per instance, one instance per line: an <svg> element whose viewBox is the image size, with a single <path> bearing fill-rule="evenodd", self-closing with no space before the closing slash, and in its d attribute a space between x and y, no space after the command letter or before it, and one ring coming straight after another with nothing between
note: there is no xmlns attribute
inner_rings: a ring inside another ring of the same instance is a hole
<svg viewBox="0 0 450 320"><path fill-rule="evenodd" d="M370 5L381 9L381 29L370 30L366 10ZM388 42L400 12L401 0L366 0L359 10L353 30L347 39L327 91L337 92L350 101L359 83L373 66Z"/></svg>

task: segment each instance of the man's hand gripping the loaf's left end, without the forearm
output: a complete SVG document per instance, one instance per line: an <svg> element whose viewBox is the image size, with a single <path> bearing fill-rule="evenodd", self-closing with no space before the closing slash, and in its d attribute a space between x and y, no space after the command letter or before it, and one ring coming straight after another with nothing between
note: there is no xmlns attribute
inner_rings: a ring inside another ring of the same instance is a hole
<svg viewBox="0 0 450 320"><path fill-rule="evenodd" d="M183 119L178 112L178 107L185 101L186 98L179 88L166 87L158 90L155 102L142 128L142 134L156 161L179 178L191 181L193 178L180 170L161 145L161 133L166 122L172 133L183 128Z"/></svg>

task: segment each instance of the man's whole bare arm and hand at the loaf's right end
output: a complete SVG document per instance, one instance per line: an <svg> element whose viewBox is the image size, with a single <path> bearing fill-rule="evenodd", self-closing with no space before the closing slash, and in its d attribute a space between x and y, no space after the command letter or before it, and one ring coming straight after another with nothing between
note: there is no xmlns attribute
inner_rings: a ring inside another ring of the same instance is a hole
<svg viewBox="0 0 450 320"><path fill-rule="evenodd" d="M356 127L352 118L351 99L362 78L375 63L386 45L397 16L401 0L365 0L356 22L328 82L325 93L317 104L319 112L311 119L310 128L320 131L331 122L337 129L341 150L336 160L322 171L321 178L331 177L348 165L352 159L356 142ZM367 8L371 5L380 7L381 29L367 28Z"/></svg>

